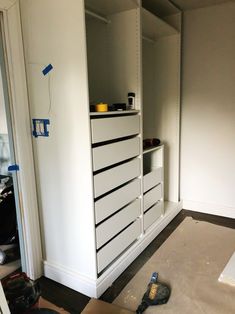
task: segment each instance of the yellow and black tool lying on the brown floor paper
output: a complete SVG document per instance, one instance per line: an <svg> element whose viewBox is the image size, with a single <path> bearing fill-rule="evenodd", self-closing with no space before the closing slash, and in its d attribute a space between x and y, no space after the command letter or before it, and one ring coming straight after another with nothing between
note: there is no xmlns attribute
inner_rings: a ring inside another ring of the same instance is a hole
<svg viewBox="0 0 235 314"><path fill-rule="evenodd" d="M170 288L167 285L158 282L158 273L154 272L136 313L143 313L151 305L165 304L169 300L169 297Z"/></svg>

